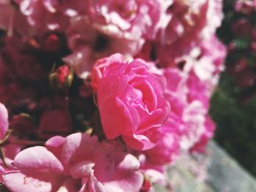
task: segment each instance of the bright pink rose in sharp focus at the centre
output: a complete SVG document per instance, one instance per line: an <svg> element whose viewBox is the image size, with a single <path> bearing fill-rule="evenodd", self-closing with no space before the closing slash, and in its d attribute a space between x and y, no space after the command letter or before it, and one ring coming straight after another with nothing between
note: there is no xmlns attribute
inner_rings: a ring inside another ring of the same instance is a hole
<svg viewBox="0 0 256 192"><path fill-rule="evenodd" d="M149 72L143 60L128 62L115 54L97 62L91 84L107 139L121 136L136 150L157 144L170 111L163 95L165 78Z"/></svg>

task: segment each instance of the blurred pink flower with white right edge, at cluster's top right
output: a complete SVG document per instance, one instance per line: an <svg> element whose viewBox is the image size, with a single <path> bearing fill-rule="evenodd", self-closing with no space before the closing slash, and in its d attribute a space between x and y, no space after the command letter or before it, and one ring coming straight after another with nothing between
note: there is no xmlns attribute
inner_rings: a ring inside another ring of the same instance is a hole
<svg viewBox="0 0 256 192"><path fill-rule="evenodd" d="M161 66L175 66L203 38L215 33L222 20L222 1L173 1L157 40ZM170 16L168 16L170 15Z"/></svg>

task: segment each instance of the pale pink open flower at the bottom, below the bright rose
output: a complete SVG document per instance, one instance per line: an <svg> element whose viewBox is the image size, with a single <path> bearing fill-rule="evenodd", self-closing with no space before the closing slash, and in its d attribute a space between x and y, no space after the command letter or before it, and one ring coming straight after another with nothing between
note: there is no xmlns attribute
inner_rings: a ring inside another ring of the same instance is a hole
<svg viewBox="0 0 256 192"><path fill-rule="evenodd" d="M15 156L15 171L3 175L10 191L139 191L139 161L88 134L52 137L46 147Z"/></svg>

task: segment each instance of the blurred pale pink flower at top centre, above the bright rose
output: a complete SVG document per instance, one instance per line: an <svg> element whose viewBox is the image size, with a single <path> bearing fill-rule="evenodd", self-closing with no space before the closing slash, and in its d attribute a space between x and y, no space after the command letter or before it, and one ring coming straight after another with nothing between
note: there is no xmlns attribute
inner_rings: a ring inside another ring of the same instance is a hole
<svg viewBox="0 0 256 192"><path fill-rule="evenodd" d="M163 2L159 0L100 0L89 4L94 23L116 28L130 39L154 39L159 29Z"/></svg>

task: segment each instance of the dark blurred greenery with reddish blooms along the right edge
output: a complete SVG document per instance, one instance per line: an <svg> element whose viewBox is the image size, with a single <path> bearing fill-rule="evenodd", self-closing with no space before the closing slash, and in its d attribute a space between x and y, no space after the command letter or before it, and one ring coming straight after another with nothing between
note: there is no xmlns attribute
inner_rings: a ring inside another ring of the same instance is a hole
<svg viewBox="0 0 256 192"><path fill-rule="evenodd" d="M217 34L228 55L211 99L214 139L256 176L256 1L224 0L223 9Z"/></svg>

